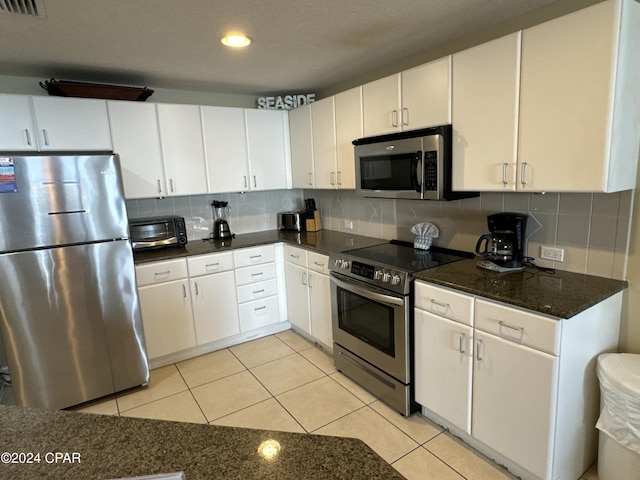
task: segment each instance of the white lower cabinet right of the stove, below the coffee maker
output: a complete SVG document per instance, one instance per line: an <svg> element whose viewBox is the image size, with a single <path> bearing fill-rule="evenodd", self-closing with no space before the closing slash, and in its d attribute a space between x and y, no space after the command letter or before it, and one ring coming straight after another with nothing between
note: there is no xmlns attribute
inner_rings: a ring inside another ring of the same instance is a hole
<svg viewBox="0 0 640 480"><path fill-rule="evenodd" d="M595 461L595 360L615 350L618 293L561 319L417 281L415 397L423 414L524 479Z"/></svg>

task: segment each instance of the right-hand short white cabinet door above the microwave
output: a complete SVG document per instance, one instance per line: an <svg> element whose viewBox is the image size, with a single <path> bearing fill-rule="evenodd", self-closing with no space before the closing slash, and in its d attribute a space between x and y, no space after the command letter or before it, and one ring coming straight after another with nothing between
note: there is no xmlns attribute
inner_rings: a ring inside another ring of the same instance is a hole
<svg viewBox="0 0 640 480"><path fill-rule="evenodd" d="M451 56L401 74L403 130L451 123Z"/></svg>

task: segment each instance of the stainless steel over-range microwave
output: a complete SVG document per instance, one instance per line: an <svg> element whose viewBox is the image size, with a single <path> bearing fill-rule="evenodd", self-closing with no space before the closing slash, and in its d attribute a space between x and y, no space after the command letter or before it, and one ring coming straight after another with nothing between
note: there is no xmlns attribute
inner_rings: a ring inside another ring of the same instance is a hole
<svg viewBox="0 0 640 480"><path fill-rule="evenodd" d="M456 200L451 190L451 125L354 140L356 193L365 197Z"/></svg>

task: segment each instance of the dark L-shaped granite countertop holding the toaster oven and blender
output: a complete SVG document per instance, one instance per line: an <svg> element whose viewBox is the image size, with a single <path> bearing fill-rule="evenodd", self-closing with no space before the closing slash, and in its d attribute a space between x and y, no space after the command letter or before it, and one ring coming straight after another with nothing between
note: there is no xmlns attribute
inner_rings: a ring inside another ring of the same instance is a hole
<svg viewBox="0 0 640 480"><path fill-rule="evenodd" d="M281 230L267 230L264 232L236 235L229 240L190 240L184 248L165 248L147 250L134 253L136 264L171 260L190 255L216 253L235 248L255 247L269 243L285 242L299 245L310 250L329 255L331 252L344 252L354 248L368 247L386 243L388 240L365 237L334 230L320 230L317 232L288 232Z"/></svg>

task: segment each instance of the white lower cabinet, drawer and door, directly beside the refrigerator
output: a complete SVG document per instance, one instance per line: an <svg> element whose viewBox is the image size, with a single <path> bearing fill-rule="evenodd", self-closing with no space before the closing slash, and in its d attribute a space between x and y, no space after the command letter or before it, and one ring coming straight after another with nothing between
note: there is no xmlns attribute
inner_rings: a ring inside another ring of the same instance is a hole
<svg viewBox="0 0 640 480"><path fill-rule="evenodd" d="M186 260L138 265L136 277L149 359L195 347Z"/></svg>

